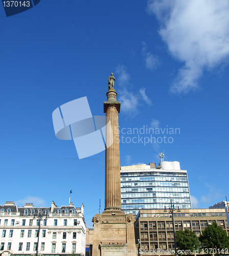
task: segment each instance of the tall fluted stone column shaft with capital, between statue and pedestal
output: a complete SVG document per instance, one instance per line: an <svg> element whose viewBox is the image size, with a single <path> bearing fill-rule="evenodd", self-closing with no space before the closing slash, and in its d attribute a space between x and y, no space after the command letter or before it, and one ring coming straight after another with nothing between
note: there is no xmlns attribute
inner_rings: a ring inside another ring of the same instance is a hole
<svg viewBox="0 0 229 256"><path fill-rule="evenodd" d="M121 210L119 117L121 102L116 100L116 90L109 89L104 101L104 113L111 125L106 125L105 156L105 210Z"/></svg>

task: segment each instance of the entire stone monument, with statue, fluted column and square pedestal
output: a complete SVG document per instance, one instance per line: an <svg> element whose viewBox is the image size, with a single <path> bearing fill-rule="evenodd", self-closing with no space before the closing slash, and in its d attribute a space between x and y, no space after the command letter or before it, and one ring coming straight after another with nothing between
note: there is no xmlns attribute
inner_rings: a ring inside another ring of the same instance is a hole
<svg viewBox="0 0 229 256"><path fill-rule="evenodd" d="M106 145L110 146L106 147L105 153L105 209L102 214L96 214L92 220L94 223L92 256L121 256L125 250L130 250L131 255L138 254L134 238L135 219L132 214L126 215L121 208L118 117L121 102L117 101L117 93L113 89L114 80L111 73L108 79L107 101L104 101L104 113L111 124L106 126Z"/></svg>

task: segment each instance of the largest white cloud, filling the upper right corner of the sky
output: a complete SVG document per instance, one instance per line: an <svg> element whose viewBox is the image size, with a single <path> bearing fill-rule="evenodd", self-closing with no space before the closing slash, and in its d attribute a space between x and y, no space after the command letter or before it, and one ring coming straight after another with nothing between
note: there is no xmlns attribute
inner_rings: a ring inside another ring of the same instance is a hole
<svg viewBox="0 0 229 256"><path fill-rule="evenodd" d="M148 0L147 10L161 23L159 34L171 55L184 62L171 87L173 93L195 90L204 70L228 60L227 0Z"/></svg>

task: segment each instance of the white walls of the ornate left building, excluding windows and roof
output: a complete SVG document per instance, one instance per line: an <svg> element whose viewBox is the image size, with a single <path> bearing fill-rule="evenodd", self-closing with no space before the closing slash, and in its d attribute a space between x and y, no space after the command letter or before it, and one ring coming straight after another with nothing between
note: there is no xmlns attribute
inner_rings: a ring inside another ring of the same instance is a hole
<svg viewBox="0 0 229 256"><path fill-rule="evenodd" d="M4 250L0 250L0 253L4 251L9 251L11 254L32 254L36 253L34 250L34 243L37 243L37 237L35 236L37 226L37 216L34 220L34 216L28 214L28 216L22 216L21 212L0 212L0 245L5 243ZM64 206L65 207L65 206ZM61 211L64 208L61 207ZM66 206L69 207L69 206ZM71 206L74 207L74 206ZM37 208L37 207L36 207ZM56 207L57 208L57 207ZM55 208L55 210L56 210ZM74 207L75 208L75 207ZM38 208L38 209L43 209ZM48 208L45 208L48 209ZM83 212L83 207L81 208ZM65 214L64 212L49 212L47 215L47 224L44 225L45 216L42 217L39 233L39 245L38 253L44 254L72 254L73 244L76 244L76 254L85 255L85 239L86 239L86 226L81 209L78 208L76 213L69 212ZM0 209L1 210L1 209ZM51 207L50 207L51 210ZM5 220L8 220L7 225L5 225ZM11 221L14 220L14 225L11 226ZM23 220L25 220L25 225L23 225ZM30 220L33 220L32 226L30 226ZM57 225L55 226L54 220L57 220ZM66 220L66 221L64 221ZM76 220L76 221L75 221ZM66 222L66 223L64 223ZM75 222L75 223L74 223ZM65 226L66 224L66 226ZM77 225L76 225L77 224ZM4 236L4 230L6 230L6 235ZM10 232L13 234L10 237ZM21 230L24 230L24 236L22 237ZM31 230L31 231L29 231ZM45 237L42 235L45 230ZM31 237L28 237L28 232L31 232ZM56 237L55 237L56 233ZM65 235L66 234L66 238ZM7 250L8 243L11 243L10 250ZM19 250L19 243L22 243L22 250ZM30 243L30 249L27 250L27 243ZM41 248L41 243L44 243L44 249ZM55 252L52 252L52 244L56 244ZM66 245L65 252L62 252L62 245ZM1 248L0 248L1 249Z"/></svg>

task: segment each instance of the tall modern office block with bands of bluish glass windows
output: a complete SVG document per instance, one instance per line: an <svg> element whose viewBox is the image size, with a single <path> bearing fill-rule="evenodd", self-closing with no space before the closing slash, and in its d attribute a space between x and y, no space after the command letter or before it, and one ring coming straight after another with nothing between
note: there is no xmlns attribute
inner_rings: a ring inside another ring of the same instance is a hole
<svg viewBox="0 0 229 256"><path fill-rule="evenodd" d="M126 214L137 215L139 209L162 209L172 199L180 209L190 209L191 199L187 170L179 162L122 166L122 209Z"/></svg>

